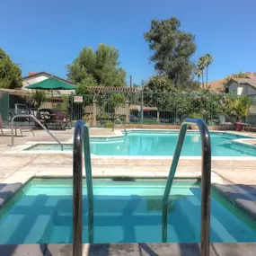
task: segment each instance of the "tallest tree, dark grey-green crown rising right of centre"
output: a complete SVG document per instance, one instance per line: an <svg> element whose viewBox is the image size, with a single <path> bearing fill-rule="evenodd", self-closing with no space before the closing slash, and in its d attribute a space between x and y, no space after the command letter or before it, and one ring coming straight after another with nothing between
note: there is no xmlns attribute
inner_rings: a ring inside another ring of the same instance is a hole
<svg viewBox="0 0 256 256"><path fill-rule="evenodd" d="M154 51L150 61L161 75L168 75L176 87L185 84L192 75L193 64L190 57L196 51L194 36L181 31L181 22L172 17L151 22L150 31L144 34L149 49Z"/></svg>

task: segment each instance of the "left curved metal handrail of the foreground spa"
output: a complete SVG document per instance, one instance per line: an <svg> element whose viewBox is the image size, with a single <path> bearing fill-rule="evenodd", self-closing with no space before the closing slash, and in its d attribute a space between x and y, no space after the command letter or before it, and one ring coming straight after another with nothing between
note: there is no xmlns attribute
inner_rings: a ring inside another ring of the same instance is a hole
<svg viewBox="0 0 256 256"><path fill-rule="evenodd" d="M84 145L84 146L83 146ZM83 247L83 148L88 198L89 243L93 243L93 179L89 128L83 120L75 124L73 147L73 255L82 256Z"/></svg>

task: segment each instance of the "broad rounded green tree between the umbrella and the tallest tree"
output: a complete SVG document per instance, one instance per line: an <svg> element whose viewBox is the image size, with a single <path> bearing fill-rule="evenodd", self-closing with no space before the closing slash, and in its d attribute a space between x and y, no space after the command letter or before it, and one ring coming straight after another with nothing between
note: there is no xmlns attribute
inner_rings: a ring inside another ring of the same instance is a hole
<svg viewBox="0 0 256 256"><path fill-rule="evenodd" d="M71 65L66 66L67 77L75 84L124 86L126 72L119 67L119 50L100 44L93 51L84 47ZM80 90L79 89L79 90Z"/></svg>

